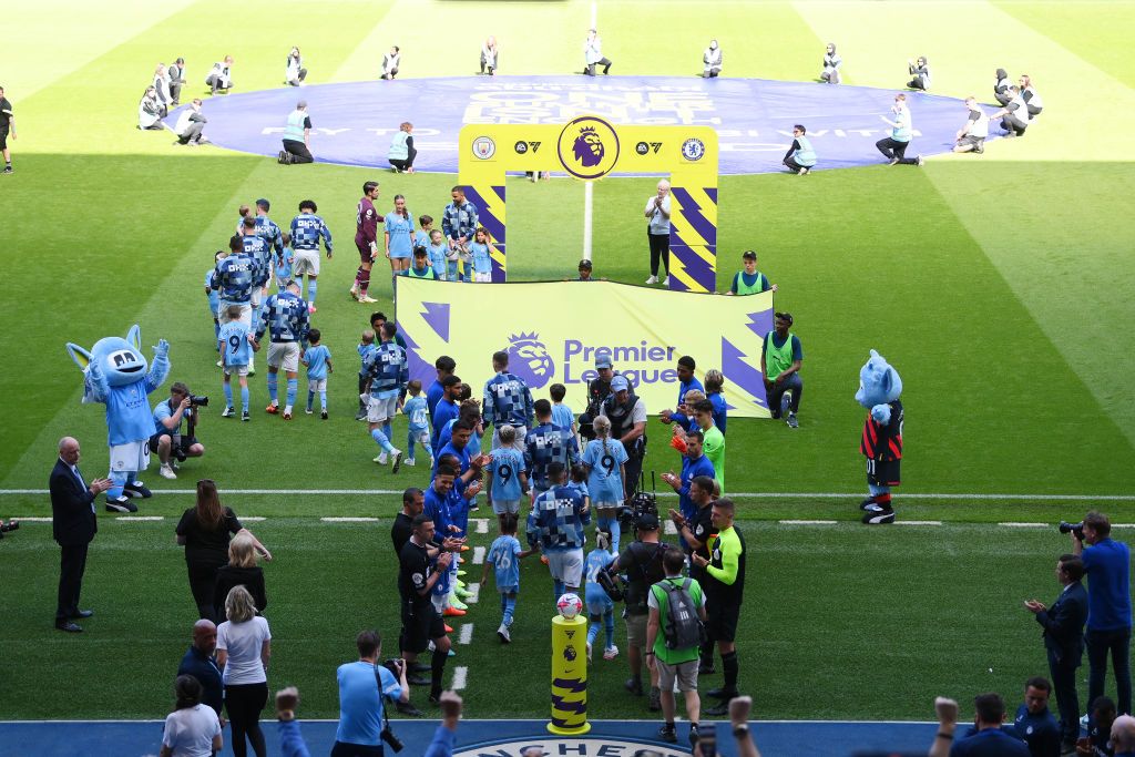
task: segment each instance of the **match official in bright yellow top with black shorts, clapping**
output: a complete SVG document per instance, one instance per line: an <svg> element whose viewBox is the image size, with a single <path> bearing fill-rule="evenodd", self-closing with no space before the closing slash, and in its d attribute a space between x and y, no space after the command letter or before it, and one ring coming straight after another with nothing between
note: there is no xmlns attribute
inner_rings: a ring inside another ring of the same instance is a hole
<svg viewBox="0 0 1135 757"><path fill-rule="evenodd" d="M740 696L737 690L737 621L745 599L745 537L733 525L733 502L722 498L713 503L712 522L717 536L709 538L709 560L697 552L690 555L705 570L701 587L706 594L706 632L717 645L725 682L707 693L721 700L705 710L715 717L729 715L729 701Z"/></svg>

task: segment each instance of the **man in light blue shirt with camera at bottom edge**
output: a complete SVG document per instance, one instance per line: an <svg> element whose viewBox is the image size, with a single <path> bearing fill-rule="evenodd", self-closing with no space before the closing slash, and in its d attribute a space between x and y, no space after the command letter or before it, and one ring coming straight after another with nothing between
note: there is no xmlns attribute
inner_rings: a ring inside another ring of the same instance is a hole
<svg viewBox="0 0 1135 757"><path fill-rule="evenodd" d="M377 631L362 631L355 639L359 662L339 665L339 726L331 757L382 757L382 743L394 751L402 742L390 730L382 700L410 701L406 666L401 659L381 665L382 639Z"/></svg>

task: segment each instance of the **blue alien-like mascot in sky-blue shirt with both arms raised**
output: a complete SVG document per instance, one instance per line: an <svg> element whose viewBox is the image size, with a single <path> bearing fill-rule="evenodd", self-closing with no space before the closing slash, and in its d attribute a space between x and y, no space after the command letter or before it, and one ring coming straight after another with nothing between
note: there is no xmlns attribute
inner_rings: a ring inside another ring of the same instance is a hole
<svg viewBox="0 0 1135 757"><path fill-rule="evenodd" d="M169 343L158 340L149 372L141 350L142 331L136 323L125 339L108 336L95 342L91 352L67 343L67 352L83 369L83 402L107 405L110 480L114 481L107 491L107 510L114 512L134 512L137 507L129 497L151 496L135 476L150 464L149 443L154 427L146 396L169 375Z"/></svg>

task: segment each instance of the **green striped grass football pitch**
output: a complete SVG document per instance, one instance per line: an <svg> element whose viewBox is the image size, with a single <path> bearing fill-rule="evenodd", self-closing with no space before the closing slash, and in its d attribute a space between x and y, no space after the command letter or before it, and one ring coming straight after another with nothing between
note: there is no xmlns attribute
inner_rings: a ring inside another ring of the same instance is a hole
<svg viewBox="0 0 1135 757"><path fill-rule="evenodd" d="M728 480L750 549L741 688L755 716L926 720L941 693L962 700L966 717L974 693L997 690L1015 703L1026 678L1046 674L1022 602L1057 594L1051 567L1070 545L1054 523L1099 507L1135 524L1135 149L1123 128L1135 117L1135 66L1125 54L1135 3L377 0L260 2L237 12L212 0L12 0L0 11L0 85L19 135L10 141L15 174L0 176L3 298L14 316L5 339L11 361L0 370L0 516L50 516L43 490L64 435L81 440L89 478L107 465L102 407L79 404L82 376L65 343L90 347L138 323L146 358L149 345L168 339L169 381L213 404L199 427L205 457L176 481L158 478L155 466L144 477L158 494L138 515L160 520L100 510L83 599L96 615L84 633L50 624L59 561L50 522L26 521L0 541L0 717L168 712L195 620L174 525L197 478L218 482L276 557L266 565L269 685L299 685L302 717L337 716L335 667L354 658L360 629L377 628L395 653L395 493L424 488L428 472L393 476L372 463L375 445L353 420L355 345L371 311L346 293L356 266L351 237L364 180L381 183L380 211L404 194L415 216L440 219L456 177L283 167L175 148L168 132L135 129L157 62L186 59L183 102L208 96L202 81L226 53L236 59L235 92L279 87L293 44L312 84L375 79L392 44L402 47L407 81L472 76L488 34L501 41L502 74L564 75L580 67L592 10L615 61L612 81L693 76L711 37L730 77L814 81L829 41L839 44L848 84L900 91L906 60L922 54L935 94L991 102L995 68L1032 75L1044 113L1024 138L991 143L983 155L936 157L920 169L880 160L807 177L723 176L717 281L728 288L740 253L756 250L805 351L799 429L729 426ZM889 92L881 90L882 103ZM958 113L960 126L960 106ZM318 113L312 120L318 127ZM429 118L392 112L380 126L402 120ZM387 144L376 140L373 150L385 154ZM318 157L318 135L313 150ZM595 186L597 277L646 277L641 209L654 183ZM510 177L508 190L510 279L574 277L582 185ZM262 356L250 380L252 422L219 417L202 280L237 207L258 197L271 200L281 225L300 200L314 199L335 235L313 321L336 369L326 422L301 412L285 424L260 410ZM384 269L378 261L371 294L393 314ZM696 297L675 302L698 319ZM487 296L484 318L508 313ZM705 329L713 336L712 323ZM856 507L864 411L854 394L871 348L905 386L893 527L860 525ZM699 361L698 372L705 368ZM582 394L568 403L581 411ZM404 421L395 428L397 444ZM646 470L676 468L669 430L653 420L648 429ZM491 514L482 507L473 516L489 519L471 538L487 547ZM470 577L480 572L476 556L466 553ZM547 713L550 599L547 571L531 560L511 646L494 633L491 583L455 619L447 683L463 670L471 717ZM624 642L620 623L616 644ZM645 700L622 690L623 657L598 661L590 673L596 717L649 716ZM414 700L424 705L424 691Z"/></svg>

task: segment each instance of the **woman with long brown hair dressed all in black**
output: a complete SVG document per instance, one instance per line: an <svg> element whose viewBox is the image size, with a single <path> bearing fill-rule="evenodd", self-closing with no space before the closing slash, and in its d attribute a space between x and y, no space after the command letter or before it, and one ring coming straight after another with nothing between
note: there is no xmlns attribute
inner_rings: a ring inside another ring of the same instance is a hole
<svg viewBox="0 0 1135 757"><path fill-rule="evenodd" d="M224 607L228 595L213 602L217 589L217 571L228 562L229 535L246 535L253 547L271 560L271 553L260 544L251 531L241 525L236 513L220 504L217 485L211 479L197 481L197 504L182 513L177 523L177 544L185 547L185 565L190 573L190 590L197 605L200 617L216 621L215 605Z"/></svg>

